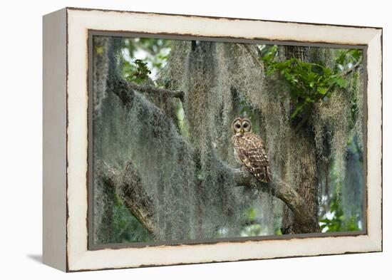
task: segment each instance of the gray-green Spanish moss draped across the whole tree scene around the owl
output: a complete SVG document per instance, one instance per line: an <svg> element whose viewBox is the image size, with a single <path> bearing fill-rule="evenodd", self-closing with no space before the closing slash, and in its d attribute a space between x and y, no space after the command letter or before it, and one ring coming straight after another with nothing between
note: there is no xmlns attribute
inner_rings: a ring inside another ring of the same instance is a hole
<svg viewBox="0 0 392 280"><path fill-rule="evenodd" d="M118 74L107 70L110 52L116 52L115 46L120 44L110 45L109 38L102 40L96 42L103 50L95 53L94 64L94 160L104 160L119 170L132 162L153 201L158 231L148 233L131 213L127 216L124 207L115 203L115 197L121 201L124 194L105 194L105 186L95 177L96 243L127 238L150 241L276 234L282 224L283 203L268 192L235 186L232 177L222 177L214 168L217 160L239 167L232 152L230 125L245 113L254 132L266 142L274 178L294 187L303 181L304 163L299 164L299 159L309 153L309 146L299 142L304 135L290 119L292 103L282 98L289 88L277 74L264 75L262 64L255 59L257 48L172 41L170 58L158 81L167 89L184 91L184 102L135 91L132 105L124 106L110 88L113 77L109 74ZM321 50L310 48L310 59L331 64L333 52ZM121 58L113 57L113 65L118 67ZM283 51L279 59L285 59ZM354 72L346 90L336 90L328 102L317 103L311 110L310 151L318 160L319 170L326 167L326 172L319 172L320 185L325 185L325 177L332 170L339 171L337 176L344 187L353 185L344 175L349 170L347 142L355 136L362 149L362 78ZM352 118L353 108L356 118ZM361 182L354 185L361 187ZM353 194L344 190L344 203L358 199ZM122 222L110 224L113 219ZM118 230L110 233L111 227ZM133 235L125 238L124 232Z"/></svg>

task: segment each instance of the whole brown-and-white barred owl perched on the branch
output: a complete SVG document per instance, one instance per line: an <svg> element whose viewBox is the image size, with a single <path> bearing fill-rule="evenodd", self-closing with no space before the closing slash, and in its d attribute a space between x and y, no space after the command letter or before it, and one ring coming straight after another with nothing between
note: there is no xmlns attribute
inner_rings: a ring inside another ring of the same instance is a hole
<svg viewBox="0 0 392 280"><path fill-rule="evenodd" d="M252 124L247 118L236 118L232 122L234 157L245 169L262 182L272 179L269 161L262 138L252 133Z"/></svg>

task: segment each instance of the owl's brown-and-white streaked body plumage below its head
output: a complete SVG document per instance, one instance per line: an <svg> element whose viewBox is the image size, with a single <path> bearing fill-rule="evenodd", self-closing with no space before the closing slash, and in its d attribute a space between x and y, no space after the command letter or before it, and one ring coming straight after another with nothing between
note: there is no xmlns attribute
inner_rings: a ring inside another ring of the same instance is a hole
<svg viewBox="0 0 392 280"><path fill-rule="evenodd" d="M233 135L234 156L247 171L262 182L271 182L269 160L262 138L254 133Z"/></svg>

